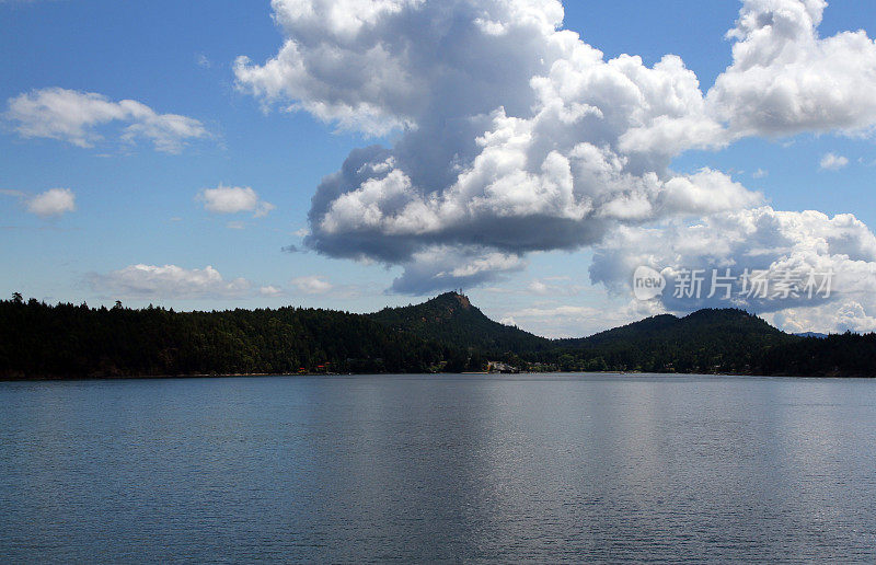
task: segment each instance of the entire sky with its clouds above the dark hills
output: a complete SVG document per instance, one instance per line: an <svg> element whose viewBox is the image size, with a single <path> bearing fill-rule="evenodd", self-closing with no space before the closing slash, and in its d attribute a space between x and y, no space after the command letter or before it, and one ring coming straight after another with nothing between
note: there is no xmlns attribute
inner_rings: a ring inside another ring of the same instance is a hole
<svg viewBox="0 0 876 565"><path fill-rule="evenodd" d="M874 331L871 4L0 0L0 290Z"/></svg>

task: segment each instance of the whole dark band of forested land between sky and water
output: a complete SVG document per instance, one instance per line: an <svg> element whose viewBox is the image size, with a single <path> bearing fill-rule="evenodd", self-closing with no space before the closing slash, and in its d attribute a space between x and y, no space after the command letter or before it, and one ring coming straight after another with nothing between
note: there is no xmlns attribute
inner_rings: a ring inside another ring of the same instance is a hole
<svg viewBox="0 0 876 565"><path fill-rule="evenodd" d="M525 371L871 377L876 335L794 336L725 309L546 339L489 320L456 292L373 314L0 301L2 379L462 372L489 361Z"/></svg>

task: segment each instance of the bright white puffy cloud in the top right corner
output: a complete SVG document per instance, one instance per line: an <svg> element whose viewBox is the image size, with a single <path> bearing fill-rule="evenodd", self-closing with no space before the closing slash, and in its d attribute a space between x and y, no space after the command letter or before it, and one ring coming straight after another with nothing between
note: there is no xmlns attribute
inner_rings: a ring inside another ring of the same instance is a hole
<svg viewBox="0 0 876 565"><path fill-rule="evenodd" d="M876 124L876 44L863 31L819 37L825 0L744 0L733 65L708 106L734 136L861 131Z"/></svg>

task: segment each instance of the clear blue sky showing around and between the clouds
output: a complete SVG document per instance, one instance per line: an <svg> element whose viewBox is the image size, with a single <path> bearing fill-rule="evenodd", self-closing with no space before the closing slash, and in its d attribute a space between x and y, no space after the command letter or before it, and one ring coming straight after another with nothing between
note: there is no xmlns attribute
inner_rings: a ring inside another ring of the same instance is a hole
<svg viewBox="0 0 876 565"><path fill-rule="evenodd" d="M564 27L580 33L607 59L639 55L653 67L666 54L678 55L706 92L734 62L725 33L740 5L566 2ZM833 0L818 33L855 30L876 35L876 5ZM0 288L50 302L120 299L185 310L301 304L372 311L441 291L436 286L414 296L390 290L407 260L384 261L378 253L351 261L325 253L319 242L307 251L301 230L309 228L321 178L354 149L392 147L402 131L344 129L313 111L285 112L295 95L277 102L242 85L235 58L263 65L290 34L272 19L268 2L0 1L0 103L7 111L0 125ZM124 120L95 126L91 147L22 134L12 101L55 88L96 93L111 103L137 101L158 115L196 120L205 134L183 138L173 152L157 150L143 136L126 141ZM688 175L711 168L761 193L761 204L776 210L851 212L873 227L873 124L855 126L854 135L815 128L748 135L721 148L691 147L672 155L670 169ZM822 169L829 153L848 163ZM254 209L210 211L198 195L219 186L251 187L260 203L275 208L263 217ZM35 214L33 199L53 188L71 191L74 210L61 206ZM285 253L287 245L307 252ZM631 310L629 297L592 280L593 249L589 242L576 246L521 251L526 266L460 284L491 316L544 335L585 335L649 312ZM181 276L209 265L223 282L243 278L247 286L200 292L159 281L131 290L113 274L132 265L174 265ZM865 318L876 313L858 305ZM839 327L830 325L834 318L819 311L788 323L830 330Z"/></svg>

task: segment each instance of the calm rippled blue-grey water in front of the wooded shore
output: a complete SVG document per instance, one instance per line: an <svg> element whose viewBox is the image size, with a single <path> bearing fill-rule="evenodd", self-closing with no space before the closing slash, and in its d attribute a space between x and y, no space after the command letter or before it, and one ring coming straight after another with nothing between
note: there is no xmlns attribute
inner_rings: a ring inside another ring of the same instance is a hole
<svg viewBox="0 0 876 565"><path fill-rule="evenodd" d="M876 381L0 383L0 561L876 562Z"/></svg>

